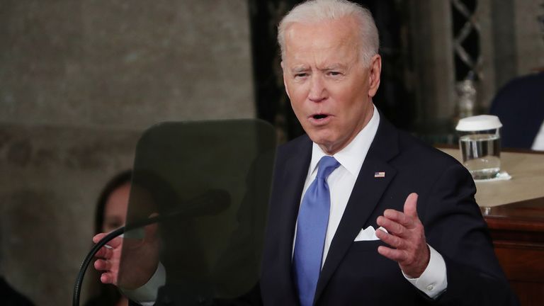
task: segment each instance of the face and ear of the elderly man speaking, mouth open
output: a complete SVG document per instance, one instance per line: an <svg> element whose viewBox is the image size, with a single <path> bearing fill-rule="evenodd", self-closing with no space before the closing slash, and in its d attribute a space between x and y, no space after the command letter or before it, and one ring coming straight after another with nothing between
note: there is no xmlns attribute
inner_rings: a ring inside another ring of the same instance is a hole
<svg viewBox="0 0 544 306"><path fill-rule="evenodd" d="M293 23L285 30L283 81L302 128L324 152L346 147L372 118L380 56L361 61L356 22Z"/></svg>

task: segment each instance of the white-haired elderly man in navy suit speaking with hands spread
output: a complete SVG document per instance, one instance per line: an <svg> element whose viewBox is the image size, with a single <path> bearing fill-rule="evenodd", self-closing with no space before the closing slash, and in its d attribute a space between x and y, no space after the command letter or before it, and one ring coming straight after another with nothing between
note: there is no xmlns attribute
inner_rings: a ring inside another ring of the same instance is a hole
<svg viewBox="0 0 544 306"><path fill-rule="evenodd" d="M370 12L307 1L283 18L278 42L307 135L278 149L263 303L515 305L470 174L373 105L382 63ZM115 282L106 261L95 266Z"/></svg>

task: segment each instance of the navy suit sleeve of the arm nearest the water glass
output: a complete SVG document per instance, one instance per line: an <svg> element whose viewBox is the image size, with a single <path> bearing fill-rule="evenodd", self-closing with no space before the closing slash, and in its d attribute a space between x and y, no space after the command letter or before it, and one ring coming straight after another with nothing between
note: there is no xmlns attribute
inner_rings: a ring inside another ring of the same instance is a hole
<svg viewBox="0 0 544 306"><path fill-rule="evenodd" d="M502 272L476 186L461 164L443 171L426 199L422 221L429 245L446 262L448 288L438 305L518 305Z"/></svg>

